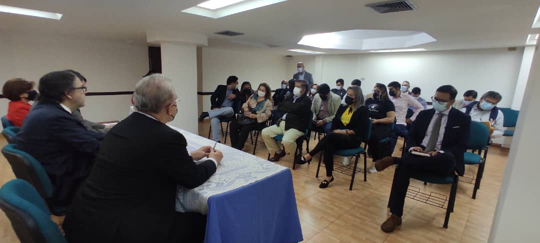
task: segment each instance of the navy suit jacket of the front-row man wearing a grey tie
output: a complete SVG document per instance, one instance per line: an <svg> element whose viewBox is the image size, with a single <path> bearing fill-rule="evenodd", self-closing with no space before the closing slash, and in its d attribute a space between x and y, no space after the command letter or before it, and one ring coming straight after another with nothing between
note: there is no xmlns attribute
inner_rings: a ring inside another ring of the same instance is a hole
<svg viewBox="0 0 540 243"><path fill-rule="evenodd" d="M411 147L422 147L422 140L426 137L429 123L434 114L434 109L423 110L418 114L410 127L407 136L407 150L403 151L404 153L408 153ZM463 176L465 172L463 153L469 139L470 126L471 117L452 107L448 114L441 150L454 156L456 159L456 172L460 176Z"/></svg>

